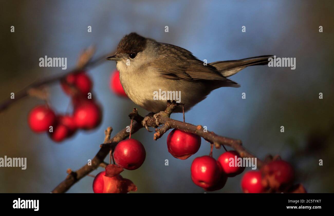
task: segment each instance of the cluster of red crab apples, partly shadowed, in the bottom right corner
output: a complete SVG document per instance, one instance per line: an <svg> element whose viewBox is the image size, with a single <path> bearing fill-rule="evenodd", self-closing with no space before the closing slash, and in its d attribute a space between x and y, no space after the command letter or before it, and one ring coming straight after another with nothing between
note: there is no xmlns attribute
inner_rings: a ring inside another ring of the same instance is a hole
<svg viewBox="0 0 334 216"><path fill-rule="evenodd" d="M248 171L241 180L244 193L288 192L306 193L301 184L293 185L294 169L284 160L274 160L260 171Z"/></svg>

